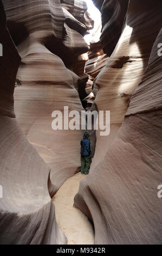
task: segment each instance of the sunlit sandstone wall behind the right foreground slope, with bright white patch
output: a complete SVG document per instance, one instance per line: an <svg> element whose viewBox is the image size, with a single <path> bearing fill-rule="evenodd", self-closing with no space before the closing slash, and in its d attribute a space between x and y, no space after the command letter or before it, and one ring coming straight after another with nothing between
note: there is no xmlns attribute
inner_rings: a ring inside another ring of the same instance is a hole
<svg viewBox="0 0 162 256"><path fill-rule="evenodd" d="M109 2L116 1L107 1L107 5ZM94 81L94 94L98 92L95 107L98 111L111 111L111 121L109 136L100 136L100 130L96 131L97 157L94 157L93 167L105 156L105 148L111 147L124 120L130 97L144 75L153 43L162 25L161 8L160 1L156 1L156 4L152 1L144 1L142 4L140 0L129 1L118 44ZM117 10L114 10L114 22Z"/></svg>

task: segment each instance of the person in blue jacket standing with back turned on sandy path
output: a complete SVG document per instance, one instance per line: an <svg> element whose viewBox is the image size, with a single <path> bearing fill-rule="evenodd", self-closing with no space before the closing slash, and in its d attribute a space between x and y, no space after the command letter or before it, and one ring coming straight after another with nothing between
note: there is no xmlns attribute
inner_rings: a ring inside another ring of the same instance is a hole
<svg viewBox="0 0 162 256"><path fill-rule="evenodd" d="M86 131L81 139L81 174L88 174L91 163L91 149L89 132Z"/></svg>

